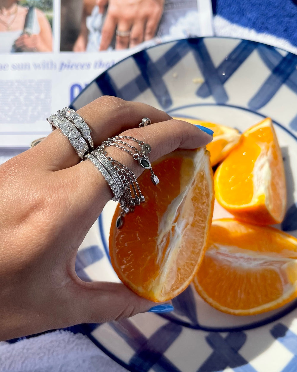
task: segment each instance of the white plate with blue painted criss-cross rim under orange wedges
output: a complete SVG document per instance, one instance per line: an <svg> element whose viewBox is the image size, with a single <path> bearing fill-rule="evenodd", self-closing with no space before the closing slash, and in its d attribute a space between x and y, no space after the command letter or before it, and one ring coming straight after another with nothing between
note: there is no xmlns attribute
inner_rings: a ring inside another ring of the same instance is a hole
<svg viewBox="0 0 297 372"><path fill-rule="evenodd" d="M72 103L104 94L136 100L172 116L244 131L274 122L283 151L288 211L279 227L297 237L297 56L257 42L193 38L138 52L101 74ZM82 244L76 268L85 280L117 281L108 256L115 203L109 202ZM215 208L215 217L224 217ZM84 331L129 371L295 372L297 302L265 314L236 317L206 304L190 286L167 315L138 314Z"/></svg>

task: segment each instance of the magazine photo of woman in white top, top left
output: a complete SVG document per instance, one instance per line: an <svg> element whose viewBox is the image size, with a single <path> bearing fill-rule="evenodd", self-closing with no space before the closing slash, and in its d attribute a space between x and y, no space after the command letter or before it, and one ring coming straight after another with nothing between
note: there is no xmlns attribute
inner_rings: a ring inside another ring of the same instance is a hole
<svg viewBox="0 0 297 372"><path fill-rule="evenodd" d="M49 20L52 0L0 0L0 53L51 52Z"/></svg>

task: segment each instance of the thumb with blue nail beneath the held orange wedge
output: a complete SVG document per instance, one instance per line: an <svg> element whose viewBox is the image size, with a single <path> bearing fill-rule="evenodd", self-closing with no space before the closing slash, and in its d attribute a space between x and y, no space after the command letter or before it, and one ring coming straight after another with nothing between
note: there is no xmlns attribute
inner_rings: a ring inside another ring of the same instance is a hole
<svg viewBox="0 0 297 372"><path fill-rule="evenodd" d="M122 283L90 282L79 284L76 296L72 296L70 305L74 324L104 323L132 317L146 312L172 311L172 305L160 306L130 291Z"/></svg>

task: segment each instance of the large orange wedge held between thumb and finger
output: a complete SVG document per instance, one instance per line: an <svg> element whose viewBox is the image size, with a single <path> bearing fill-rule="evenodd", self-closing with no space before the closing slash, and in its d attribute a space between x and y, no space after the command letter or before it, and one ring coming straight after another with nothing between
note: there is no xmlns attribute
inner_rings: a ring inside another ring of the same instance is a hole
<svg viewBox="0 0 297 372"><path fill-rule="evenodd" d="M176 150L153 164L138 179L146 202L110 230L110 257L121 281L138 295L167 301L192 281L203 251L213 213L213 176L209 152Z"/></svg>

